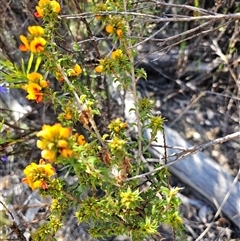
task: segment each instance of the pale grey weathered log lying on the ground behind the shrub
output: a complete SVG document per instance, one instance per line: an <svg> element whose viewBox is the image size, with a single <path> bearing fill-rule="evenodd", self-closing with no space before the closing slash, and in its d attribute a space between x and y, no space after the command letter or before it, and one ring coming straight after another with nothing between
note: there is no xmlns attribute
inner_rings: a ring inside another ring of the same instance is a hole
<svg viewBox="0 0 240 241"><path fill-rule="evenodd" d="M150 137L149 130L146 130L146 136ZM165 136L166 144L169 146L190 148L190 144L171 128L165 127ZM159 145L159 147L152 146L150 153L153 158L159 159L164 156L164 148L160 147L164 146L162 133L159 132L157 142L154 144ZM173 155L175 152L174 149L168 149L168 156ZM211 203L215 199L220 206L225 201L222 212L240 228L240 183L235 182L232 185L234 178L202 152L181 157L182 159L178 161L175 161L176 158L174 157L176 155L168 158L168 162L174 161L174 164L169 166L170 172L186 185L202 194ZM229 197L224 200L230 187Z"/></svg>

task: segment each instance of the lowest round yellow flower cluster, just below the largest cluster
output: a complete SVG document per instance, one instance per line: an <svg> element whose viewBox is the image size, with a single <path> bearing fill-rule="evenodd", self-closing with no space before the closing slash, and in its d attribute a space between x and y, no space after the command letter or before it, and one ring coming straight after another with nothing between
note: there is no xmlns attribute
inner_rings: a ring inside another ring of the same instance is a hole
<svg viewBox="0 0 240 241"><path fill-rule="evenodd" d="M37 188L45 190L51 182L50 177L55 174L55 169L41 159L39 164L31 163L23 172L26 176L22 179L23 183L27 183L33 191Z"/></svg>

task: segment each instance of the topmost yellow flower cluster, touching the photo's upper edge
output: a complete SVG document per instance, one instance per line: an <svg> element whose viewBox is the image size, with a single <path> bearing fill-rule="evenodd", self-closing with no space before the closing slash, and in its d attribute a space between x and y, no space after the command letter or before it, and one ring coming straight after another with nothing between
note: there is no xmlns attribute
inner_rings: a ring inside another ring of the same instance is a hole
<svg viewBox="0 0 240 241"><path fill-rule="evenodd" d="M42 18L48 13L59 13L61 11L61 6L57 1L51 0L40 0L38 6L36 6L35 17Z"/></svg>

